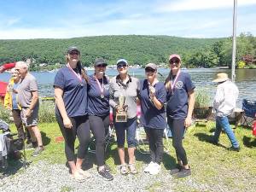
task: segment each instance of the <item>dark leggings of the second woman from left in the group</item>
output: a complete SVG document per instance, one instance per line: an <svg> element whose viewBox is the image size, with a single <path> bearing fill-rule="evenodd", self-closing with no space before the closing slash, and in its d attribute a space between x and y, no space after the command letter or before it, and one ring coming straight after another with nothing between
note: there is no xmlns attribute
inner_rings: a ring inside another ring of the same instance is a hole
<svg viewBox="0 0 256 192"><path fill-rule="evenodd" d="M96 142L96 162L97 166L105 164L105 137L108 133L109 114L107 116L89 116L90 130L95 137Z"/></svg>

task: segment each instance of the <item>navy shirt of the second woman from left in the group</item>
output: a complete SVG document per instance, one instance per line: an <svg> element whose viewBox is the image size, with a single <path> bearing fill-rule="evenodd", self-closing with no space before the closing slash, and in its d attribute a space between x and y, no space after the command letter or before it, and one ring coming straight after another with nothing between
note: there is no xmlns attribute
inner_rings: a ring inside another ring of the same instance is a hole
<svg viewBox="0 0 256 192"><path fill-rule="evenodd" d="M103 95L101 98L101 90L94 78L90 75L90 84L88 84L88 113L90 115L105 116L109 114L109 81L106 76L103 79L98 79L102 86L103 80Z"/></svg>

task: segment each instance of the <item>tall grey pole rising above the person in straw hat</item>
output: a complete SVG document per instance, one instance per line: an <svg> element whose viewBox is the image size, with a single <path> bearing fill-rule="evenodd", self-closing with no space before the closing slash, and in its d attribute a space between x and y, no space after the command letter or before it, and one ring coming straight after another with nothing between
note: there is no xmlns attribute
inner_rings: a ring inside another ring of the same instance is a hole
<svg viewBox="0 0 256 192"><path fill-rule="evenodd" d="M232 81L236 81L236 7L237 7L237 0L234 0L234 9L233 9L233 46L232 46Z"/></svg>

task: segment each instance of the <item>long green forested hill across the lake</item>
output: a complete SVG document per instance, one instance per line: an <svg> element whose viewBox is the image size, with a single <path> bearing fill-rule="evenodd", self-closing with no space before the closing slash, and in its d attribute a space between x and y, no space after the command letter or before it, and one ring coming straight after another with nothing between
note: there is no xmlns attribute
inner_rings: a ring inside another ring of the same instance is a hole
<svg viewBox="0 0 256 192"><path fill-rule="evenodd" d="M100 36L68 39L0 40L0 64L33 58L35 63L64 63L67 47L81 50L81 60L91 66L96 57L109 64L119 58L131 64L166 63L168 55L182 55L184 63L201 49L226 38L177 38L170 36Z"/></svg>

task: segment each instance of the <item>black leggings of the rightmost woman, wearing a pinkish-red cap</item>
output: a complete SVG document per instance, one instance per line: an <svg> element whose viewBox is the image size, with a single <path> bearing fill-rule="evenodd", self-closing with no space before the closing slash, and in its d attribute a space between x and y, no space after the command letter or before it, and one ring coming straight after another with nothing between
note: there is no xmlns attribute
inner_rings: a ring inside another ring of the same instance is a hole
<svg viewBox="0 0 256 192"><path fill-rule="evenodd" d="M187 154L183 148L183 134L185 131L185 119L170 119L168 125L172 131L172 146L175 148L177 160L182 160L183 166L188 164Z"/></svg>

